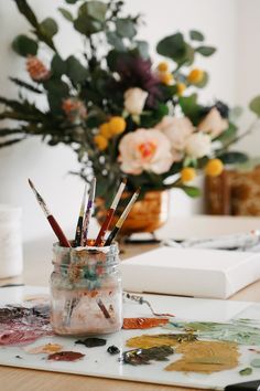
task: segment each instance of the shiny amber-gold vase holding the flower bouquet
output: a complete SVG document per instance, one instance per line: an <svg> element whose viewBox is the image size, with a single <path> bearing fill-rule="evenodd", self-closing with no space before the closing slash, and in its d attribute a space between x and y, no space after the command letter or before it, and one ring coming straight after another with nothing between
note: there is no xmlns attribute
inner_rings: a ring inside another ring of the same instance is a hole
<svg viewBox="0 0 260 391"><path fill-rule="evenodd" d="M124 194L129 198L129 194ZM104 199L96 200L97 220L101 224L106 218L106 207ZM112 219L113 226L121 214L122 210L118 210ZM121 230L121 236L130 236L132 233L154 232L165 224L169 218L169 192L167 191L148 191L144 198L137 201L131 209Z"/></svg>

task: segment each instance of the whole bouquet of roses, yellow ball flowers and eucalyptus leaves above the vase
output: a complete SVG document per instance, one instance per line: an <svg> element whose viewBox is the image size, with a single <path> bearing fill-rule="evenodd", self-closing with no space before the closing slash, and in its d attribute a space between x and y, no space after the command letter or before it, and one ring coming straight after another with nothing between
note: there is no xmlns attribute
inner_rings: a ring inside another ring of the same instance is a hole
<svg viewBox="0 0 260 391"><path fill-rule="evenodd" d="M97 196L106 194L108 203L126 176L130 193L139 187L142 194L181 188L196 197L199 190L189 184L196 170L217 176L223 165L247 159L229 150L241 137L237 109L198 101L209 75L194 62L216 51L201 32L163 38L156 45L162 61L154 62L148 42L138 38L141 17L127 15L123 1L66 0L57 11L84 45L80 54L64 59L55 19L40 21L25 0L15 3L31 30L12 47L24 57L29 78L10 77L19 97L0 97L0 119L14 124L0 129L0 147L29 136L69 146L80 165L77 173L86 181L96 176ZM260 96L249 107L258 119Z"/></svg>

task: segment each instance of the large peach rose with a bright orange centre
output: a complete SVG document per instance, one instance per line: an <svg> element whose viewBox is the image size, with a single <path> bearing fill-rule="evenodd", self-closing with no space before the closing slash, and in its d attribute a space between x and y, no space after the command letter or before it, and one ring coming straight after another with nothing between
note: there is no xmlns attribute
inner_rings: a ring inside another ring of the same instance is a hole
<svg viewBox="0 0 260 391"><path fill-rule="evenodd" d="M156 129L138 129L127 134L119 142L119 152L121 170L127 173L152 171L160 175L173 163L169 139Z"/></svg>

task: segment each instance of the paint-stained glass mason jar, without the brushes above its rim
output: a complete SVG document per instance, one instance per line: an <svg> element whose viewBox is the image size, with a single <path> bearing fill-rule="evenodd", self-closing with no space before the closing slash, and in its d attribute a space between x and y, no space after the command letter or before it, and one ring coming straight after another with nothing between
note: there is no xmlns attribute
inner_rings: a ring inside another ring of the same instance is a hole
<svg viewBox="0 0 260 391"><path fill-rule="evenodd" d="M93 335L122 327L122 287L117 244L53 246L51 324L58 335Z"/></svg>

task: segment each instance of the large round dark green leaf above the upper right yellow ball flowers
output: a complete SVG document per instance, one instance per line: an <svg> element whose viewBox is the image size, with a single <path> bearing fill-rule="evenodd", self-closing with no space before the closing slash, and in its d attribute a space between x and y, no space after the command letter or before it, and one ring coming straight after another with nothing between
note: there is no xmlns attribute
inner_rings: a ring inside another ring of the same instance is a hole
<svg viewBox="0 0 260 391"><path fill-rule="evenodd" d="M165 36L156 45L159 54L170 57L176 62L185 55L186 45L182 33Z"/></svg>

